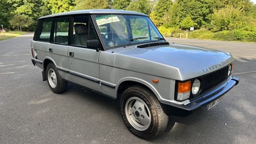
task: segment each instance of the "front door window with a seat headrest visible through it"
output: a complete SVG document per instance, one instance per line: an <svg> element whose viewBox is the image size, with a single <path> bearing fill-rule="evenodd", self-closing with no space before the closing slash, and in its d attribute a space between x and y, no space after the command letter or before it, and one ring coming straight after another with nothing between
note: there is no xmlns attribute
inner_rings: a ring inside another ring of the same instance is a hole
<svg viewBox="0 0 256 144"><path fill-rule="evenodd" d="M86 47L86 42L88 40L88 22L88 15L74 16L72 44Z"/></svg>

